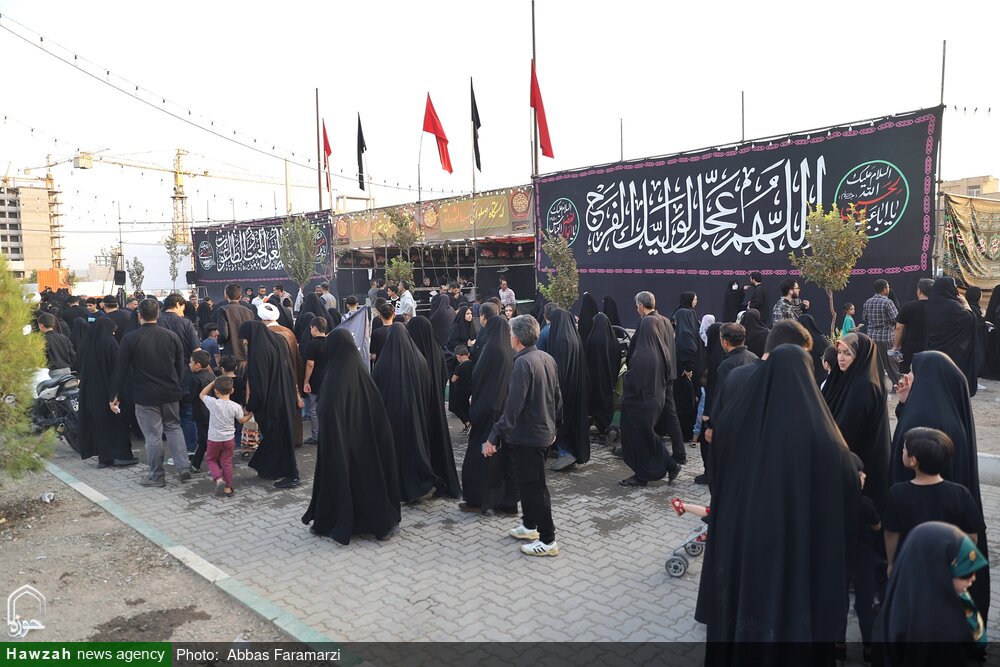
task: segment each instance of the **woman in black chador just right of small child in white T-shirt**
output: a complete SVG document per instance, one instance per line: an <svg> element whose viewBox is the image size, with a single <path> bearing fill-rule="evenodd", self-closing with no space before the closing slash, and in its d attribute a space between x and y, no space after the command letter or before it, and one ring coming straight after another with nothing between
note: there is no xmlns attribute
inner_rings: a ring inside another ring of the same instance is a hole
<svg viewBox="0 0 1000 667"><path fill-rule="evenodd" d="M288 343L267 330L263 322L248 320L240 325L246 341L246 409L260 426L261 444L250 459L250 467L263 479L277 479L275 486L299 485L295 462L295 420L301 422L302 399L295 386Z"/></svg>

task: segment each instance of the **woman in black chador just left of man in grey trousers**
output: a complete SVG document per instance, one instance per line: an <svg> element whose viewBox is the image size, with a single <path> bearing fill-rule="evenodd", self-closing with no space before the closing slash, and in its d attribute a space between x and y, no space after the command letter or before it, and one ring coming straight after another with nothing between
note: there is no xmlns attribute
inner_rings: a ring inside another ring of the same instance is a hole
<svg viewBox="0 0 1000 667"><path fill-rule="evenodd" d="M83 318L73 322L86 320ZM115 321L99 317L87 331L76 358L80 375L80 458L97 455L97 467L138 463L132 456L125 415L108 408L108 389L118 361Z"/></svg>

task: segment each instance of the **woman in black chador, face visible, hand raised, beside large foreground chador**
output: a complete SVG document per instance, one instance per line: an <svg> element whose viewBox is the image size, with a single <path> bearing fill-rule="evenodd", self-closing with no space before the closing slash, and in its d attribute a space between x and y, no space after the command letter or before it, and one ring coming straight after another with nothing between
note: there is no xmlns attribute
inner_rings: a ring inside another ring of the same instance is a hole
<svg viewBox="0 0 1000 667"><path fill-rule="evenodd" d="M834 365L823 385L823 398L847 446L865 464L864 494L881 512L889 493L889 412L878 350L862 333L848 334L843 344L854 352L846 371ZM825 349L825 348L824 348Z"/></svg>

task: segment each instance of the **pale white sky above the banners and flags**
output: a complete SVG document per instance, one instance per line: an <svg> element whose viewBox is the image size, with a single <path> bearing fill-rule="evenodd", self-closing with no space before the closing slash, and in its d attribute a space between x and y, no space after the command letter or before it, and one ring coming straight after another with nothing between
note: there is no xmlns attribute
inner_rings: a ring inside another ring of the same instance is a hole
<svg viewBox="0 0 1000 667"><path fill-rule="evenodd" d="M368 144L378 205L416 199L424 100L431 93L455 172L440 169L433 137L423 151L424 198L472 185L469 77L482 116L477 189L530 180L530 2L70 2L0 0L0 25L104 67L190 109L192 118L255 137L257 145L316 164L314 89L333 144L332 164L353 176L356 114ZM538 77L555 159L543 172L661 155L746 136L806 130L934 106L941 42L948 40L942 176L1000 174L1000 3L638 2L538 0ZM58 45L58 46L57 46ZM70 58L72 56L69 56ZM0 30L0 171L76 149L170 166L191 152L192 170L282 180L281 160L186 125L103 85ZM96 67L84 65L90 71ZM132 82L125 83L122 79ZM152 91L152 92L148 92ZM951 109L959 107L958 112ZM978 112L973 114L973 109ZM992 107L990 114L986 109ZM962 109L967 108L963 113ZM183 111L181 111L183 113ZM200 117L200 118L199 118ZM35 128L34 133L30 128ZM53 137L58 137L58 143ZM317 208L315 171L292 168L295 210ZM44 170L33 171L42 175ZM63 190L66 257L85 268L117 243L123 220L170 220L172 178L97 165L53 168ZM284 211L284 187L188 179L195 220ZM343 194L356 182L334 179ZM355 204L357 208L359 205ZM153 243L166 225L126 226Z"/></svg>

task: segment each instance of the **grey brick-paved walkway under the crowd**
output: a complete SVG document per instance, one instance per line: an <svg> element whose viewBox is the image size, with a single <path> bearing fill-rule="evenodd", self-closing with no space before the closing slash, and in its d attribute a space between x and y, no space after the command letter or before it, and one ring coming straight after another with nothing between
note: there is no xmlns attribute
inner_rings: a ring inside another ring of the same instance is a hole
<svg viewBox="0 0 1000 667"><path fill-rule="evenodd" d="M451 425L461 462L466 440L458 422ZM135 449L142 458L141 444ZM95 459L81 461L64 444L53 458L338 641L704 639L704 626L693 618L701 559L692 559L681 578L664 569L669 553L698 525L694 517L676 516L669 499L707 501L705 487L692 481L701 472L696 448L669 486L617 486L630 473L597 446L590 463L575 472L549 473L561 553L542 559L521 555L520 543L506 536L516 520L466 514L443 499L404 506L399 534L385 543L361 537L341 546L316 537L300 521L315 447L298 450L298 460L299 489L275 490L241 462L237 495L223 500L211 496L207 475L144 489L137 483L143 466L98 470ZM984 487L983 499L987 524L1000 527L1000 488ZM992 537L1000 537L1000 528ZM991 550L1000 554L993 539ZM993 590L1000 609L1000 585ZM1000 627L996 620L991 626ZM851 635L857 638L853 622Z"/></svg>

